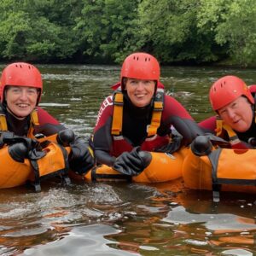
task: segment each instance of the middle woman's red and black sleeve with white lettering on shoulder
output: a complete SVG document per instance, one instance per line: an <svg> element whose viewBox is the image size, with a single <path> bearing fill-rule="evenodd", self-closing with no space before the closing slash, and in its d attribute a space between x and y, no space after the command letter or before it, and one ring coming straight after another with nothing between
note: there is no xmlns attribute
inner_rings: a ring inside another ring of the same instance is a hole
<svg viewBox="0 0 256 256"><path fill-rule="evenodd" d="M96 162L108 166L112 166L115 160L110 154L113 144L113 138L111 136L112 119L113 101L112 96L108 96L102 102L93 132L93 147L95 149Z"/></svg>

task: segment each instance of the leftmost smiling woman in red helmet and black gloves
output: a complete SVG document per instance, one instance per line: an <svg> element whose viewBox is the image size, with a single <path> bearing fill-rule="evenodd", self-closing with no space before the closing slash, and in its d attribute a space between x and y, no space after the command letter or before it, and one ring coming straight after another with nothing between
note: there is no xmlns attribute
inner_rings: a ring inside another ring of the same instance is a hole
<svg viewBox="0 0 256 256"><path fill-rule="evenodd" d="M1 146L3 147L4 140L15 143L20 142L20 137L34 139L38 136L49 137L58 134L58 142L68 142L71 148L68 155L70 168L74 172L84 174L94 165L94 157L90 153L88 143L82 138L73 137L73 132L38 107L42 93L43 81L37 67L25 62L16 62L3 69L0 80ZM15 150L19 151L19 147ZM18 154L19 152L14 153Z"/></svg>

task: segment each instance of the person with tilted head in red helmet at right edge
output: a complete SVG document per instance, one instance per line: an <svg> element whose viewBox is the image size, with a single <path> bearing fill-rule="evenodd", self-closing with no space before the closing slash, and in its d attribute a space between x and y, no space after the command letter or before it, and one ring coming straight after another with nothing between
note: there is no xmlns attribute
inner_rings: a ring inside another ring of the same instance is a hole
<svg viewBox="0 0 256 256"><path fill-rule="evenodd" d="M224 76L212 84L209 98L217 113L200 123L202 128L215 132L230 142L232 148L256 146L255 102L256 85L232 75Z"/></svg>

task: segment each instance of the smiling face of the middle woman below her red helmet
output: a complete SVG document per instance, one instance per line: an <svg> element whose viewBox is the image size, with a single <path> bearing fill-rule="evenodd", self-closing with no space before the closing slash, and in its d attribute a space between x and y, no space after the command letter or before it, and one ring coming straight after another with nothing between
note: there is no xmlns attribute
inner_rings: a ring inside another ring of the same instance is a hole
<svg viewBox="0 0 256 256"><path fill-rule="evenodd" d="M125 90L133 105L139 108L147 106L154 96L154 80L127 79Z"/></svg>

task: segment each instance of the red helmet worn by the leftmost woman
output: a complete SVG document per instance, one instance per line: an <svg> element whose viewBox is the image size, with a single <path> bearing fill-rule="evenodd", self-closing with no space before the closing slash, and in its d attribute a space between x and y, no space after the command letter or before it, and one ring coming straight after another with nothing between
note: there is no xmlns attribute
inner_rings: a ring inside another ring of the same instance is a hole
<svg viewBox="0 0 256 256"><path fill-rule="evenodd" d="M38 102L43 92L43 81L37 67L25 62L9 64L3 69L0 80L0 99L3 103L5 86L28 86L39 90ZM38 104L37 102L37 104Z"/></svg>

